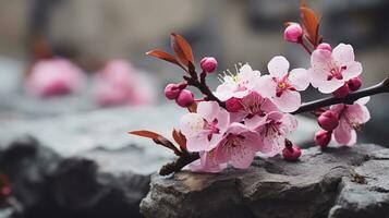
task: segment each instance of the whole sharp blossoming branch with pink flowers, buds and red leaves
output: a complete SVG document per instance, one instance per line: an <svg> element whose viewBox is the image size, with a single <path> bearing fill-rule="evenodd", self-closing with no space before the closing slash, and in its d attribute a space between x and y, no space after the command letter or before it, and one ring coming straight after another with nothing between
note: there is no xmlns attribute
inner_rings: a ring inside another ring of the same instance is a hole
<svg viewBox="0 0 389 218"><path fill-rule="evenodd" d="M368 97L361 98L368 96L367 92L348 98L362 86L362 64L355 61L351 45L340 44L332 49L323 43L318 35L318 16L302 2L301 24L288 23L283 36L307 51L311 66L306 69L290 70L289 61L282 56L269 61L265 74L247 63L240 64L235 73L224 72L222 83L212 92L206 77L217 69L217 60L204 58L202 73L197 74L191 46L182 36L171 36L177 57L161 50L147 53L174 63L187 73L183 82L165 88L168 99L174 99L190 111L181 118L180 130L172 132L179 147L150 131L130 132L151 138L180 156L177 161L163 166L160 174L180 171L186 165L192 171L206 172L218 172L229 165L245 169L256 155L282 155L285 160L297 160L302 152L288 136L297 128L294 116L306 111L317 117L323 129L314 136L316 145L326 148L332 135L339 145L356 143L355 130L370 118L365 106ZM374 94L388 92L388 83L382 83L382 89ZM323 94L332 94L331 102L324 99L302 104L300 92L309 85ZM195 99L189 86L198 88L203 97Z"/></svg>

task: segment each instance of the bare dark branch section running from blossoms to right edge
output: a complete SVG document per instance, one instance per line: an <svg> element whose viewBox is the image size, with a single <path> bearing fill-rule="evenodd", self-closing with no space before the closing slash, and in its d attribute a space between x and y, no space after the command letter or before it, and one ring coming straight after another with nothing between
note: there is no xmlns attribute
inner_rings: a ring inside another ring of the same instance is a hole
<svg viewBox="0 0 389 218"><path fill-rule="evenodd" d="M389 76L385 78L382 82L378 83L377 85L357 90L355 93L352 93L344 98L337 98L337 97L328 97L328 98L323 98L318 100L314 100L311 102L303 104L296 111L291 112L292 114L297 114L302 112L308 112L313 111L318 108L323 107L328 107L331 105L337 105L337 104L353 104L355 100L366 97L366 96L372 96L380 93L389 93Z"/></svg>

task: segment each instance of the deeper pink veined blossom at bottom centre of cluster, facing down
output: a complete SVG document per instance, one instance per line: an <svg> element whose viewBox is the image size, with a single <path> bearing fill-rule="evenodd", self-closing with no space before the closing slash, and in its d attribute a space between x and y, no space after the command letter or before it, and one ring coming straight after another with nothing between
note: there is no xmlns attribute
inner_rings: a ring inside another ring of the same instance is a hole
<svg viewBox="0 0 389 218"><path fill-rule="evenodd" d="M219 164L229 162L234 168L245 169L262 147L258 133L242 123L231 123L214 154Z"/></svg>

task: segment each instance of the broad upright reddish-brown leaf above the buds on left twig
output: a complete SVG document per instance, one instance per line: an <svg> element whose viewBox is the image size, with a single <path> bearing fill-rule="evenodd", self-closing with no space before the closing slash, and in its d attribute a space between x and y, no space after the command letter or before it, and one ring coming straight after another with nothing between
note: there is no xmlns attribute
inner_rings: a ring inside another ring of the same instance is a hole
<svg viewBox="0 0 389 218"><path fill-rule="evenodd" d="M192 47L184 37L171 34L170 44L182 64L189 66L190 62L194 63Z"/></svg>

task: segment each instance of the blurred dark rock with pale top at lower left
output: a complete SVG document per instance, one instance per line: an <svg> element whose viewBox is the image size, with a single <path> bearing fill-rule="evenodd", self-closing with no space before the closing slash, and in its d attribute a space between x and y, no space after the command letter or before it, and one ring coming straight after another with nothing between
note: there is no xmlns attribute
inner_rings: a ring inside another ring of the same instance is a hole
<svg viewBox="0 0 389 218"><path fill-rule="evenodd" d="M126 160L141 153L127 146L62 157L25 136L0 152L0 166L24 217L139 217L149 172L132 171Z"/></svg>

